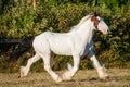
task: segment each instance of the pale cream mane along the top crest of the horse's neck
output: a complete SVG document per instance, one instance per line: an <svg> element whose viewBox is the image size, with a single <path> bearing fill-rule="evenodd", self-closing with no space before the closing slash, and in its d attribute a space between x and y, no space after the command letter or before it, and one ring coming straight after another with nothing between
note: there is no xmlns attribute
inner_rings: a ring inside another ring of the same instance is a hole
<svg viewBox="0 0 130 87"><path fill-rule="evenodd" d="M90 18L91 16L92 16L92 13L89 14L89 15L87 15L87 16L84 16L84 17L82 17L77 25L70 27L70 30L69 30L69 32L77 30L78 27L80 26L80 24L84 23L84 22L86 22L88 18Z"/></svg>

